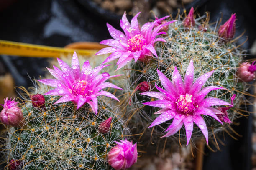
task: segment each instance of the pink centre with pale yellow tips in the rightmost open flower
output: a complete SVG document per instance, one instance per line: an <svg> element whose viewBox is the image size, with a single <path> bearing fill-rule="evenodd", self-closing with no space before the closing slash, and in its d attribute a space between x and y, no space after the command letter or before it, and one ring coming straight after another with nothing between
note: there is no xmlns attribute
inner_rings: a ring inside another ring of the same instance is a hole
<svg viewBox="0 0 256 170"><path fill-rule="evenodd" d="M177 110L184 115L189 115L195 110L193 96L186 94L180 95L179 98L176 99Z"/></svg>

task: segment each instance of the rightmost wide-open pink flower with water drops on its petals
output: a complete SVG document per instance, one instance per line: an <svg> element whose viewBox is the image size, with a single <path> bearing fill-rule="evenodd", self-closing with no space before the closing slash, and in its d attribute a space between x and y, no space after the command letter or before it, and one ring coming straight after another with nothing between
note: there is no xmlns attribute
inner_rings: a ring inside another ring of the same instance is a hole
<svg viewBox="0 0 256 170"><path fill-rule="evenodd" d="M216 113L219 113L220 110L212 108L211 106L233 106L228 102L218 98L205 98L205 96L212 90L224 89L223 87L218 86L208 86L201 90L207 79L212 75L214 71L201 75L199 78L197 78L197 80L195 80L194 84L194 65L192 60L187 67L184 82L182 81L181 75L179 74L176 67L172 72L172 82L167 77L165 77L162 72L159 70L157 70L157 72L161 84L165 90L156 85L156 89L160 92L141 93L142 95L156 97L159 99L143 104L162 108L155 113L161 115L159 115L159 117L157 117L149 127L159 125L173 118L172 124L166 130L168 132L163 137L174 135L177 133L177 131L179 131L180 128L182 128L182 125L184 124L188 145L193 131L193 124L195 122L195 124L205 135L206 142L208 143L208 131L205 121L201 115L211 116L222 124L220 119L216 116Z"/></svg>

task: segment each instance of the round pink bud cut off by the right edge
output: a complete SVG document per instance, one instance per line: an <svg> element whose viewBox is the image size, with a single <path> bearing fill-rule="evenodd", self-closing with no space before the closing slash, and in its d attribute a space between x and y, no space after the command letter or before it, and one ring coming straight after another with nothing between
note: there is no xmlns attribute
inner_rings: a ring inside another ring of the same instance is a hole
<svg viewBox="0 0 256 170"><path fill-rule="evenodd" d="M244 82L250 82L255 79L256 65L255 61L250 64L243 62L237 69L238 77Z"/></svg>

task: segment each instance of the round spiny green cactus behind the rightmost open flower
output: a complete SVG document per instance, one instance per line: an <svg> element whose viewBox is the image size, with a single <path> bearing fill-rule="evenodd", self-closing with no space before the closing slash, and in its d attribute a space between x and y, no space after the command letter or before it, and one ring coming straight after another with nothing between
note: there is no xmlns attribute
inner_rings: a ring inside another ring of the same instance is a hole
<svg viewBox="0 0 256 170"><path fill-rule="evenodd" d="M217 97L230 103L231 96L236 94L234 107L232 110L228 110L229 118L233 122L237 117L241 116L238 110L240 110L241 103L246 103L243 94L246 91L247 85L239 79L236 70L243 60L245 51L240 49L239 46L237 47L232 41L223 41L222 38L218 37L216 28L208 25L207 19L205 21L202 21L202 19L203 17L195 19L195 26L186 28L184 27L182 16L179 15L178 20L169 25L168 34L164 37L166 43L158 42L155 44L158 58L152 57L146 62L132 62L129 66L131 69L128 73L127 82L124 83L126 85L121 87L130 92L132 105L128 117L133 115L133 121L131 122L134 123L131 127L139 127L134 129L132 133L144 133L144 139L142 138L141 140L145 142L150 141L146 140L148 138L159 142L159 137L163 136L164 129L167 128L170 121L166 125L161 124L154 127L154 129L146 129L158 116L153 115L158 108L142 105L143 102L154 100L154 98L140 95L141 92L137 90L138 85L141 82L149 82L151 84L156 83L156 85L162 87L156 70L159 69L171 80L175 66L181 73L183 80L189 60L191 59L194 61L195 78L215 70L205 83L205 87L215 85L227 89L213 90L207 97ZM207 31L202 29L202 27L207 28ZM151 88L151 90L158 91L155 87ZM134 114L134 110L138 110L138 112ZM205 116L204 120L208 127L209 138L213 138L213 133L223 131L228 126L226 123L221 125L208 116ZM202 136L200 129L195 125L192 139L201 138ZM184 128L177 135L169 137L168 141L175 141L174 143L176 144L178 141L183 143L182 141L185 141L183 137L185 137Z"/></svg>

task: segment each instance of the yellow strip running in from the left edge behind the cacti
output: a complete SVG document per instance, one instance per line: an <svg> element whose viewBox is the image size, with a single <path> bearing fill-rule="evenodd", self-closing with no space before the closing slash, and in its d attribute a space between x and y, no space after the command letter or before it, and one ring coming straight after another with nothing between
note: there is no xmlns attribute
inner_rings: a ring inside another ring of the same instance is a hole
<svg viewBox="0 0 256 170"><path fill-rule="evenodd" d="M74 50L80 55L93 55L98 51L49 47L44 45L33 45L0 40L0 55L18 55L23 57L59 57L61 54L73 54Z"/></svg>

